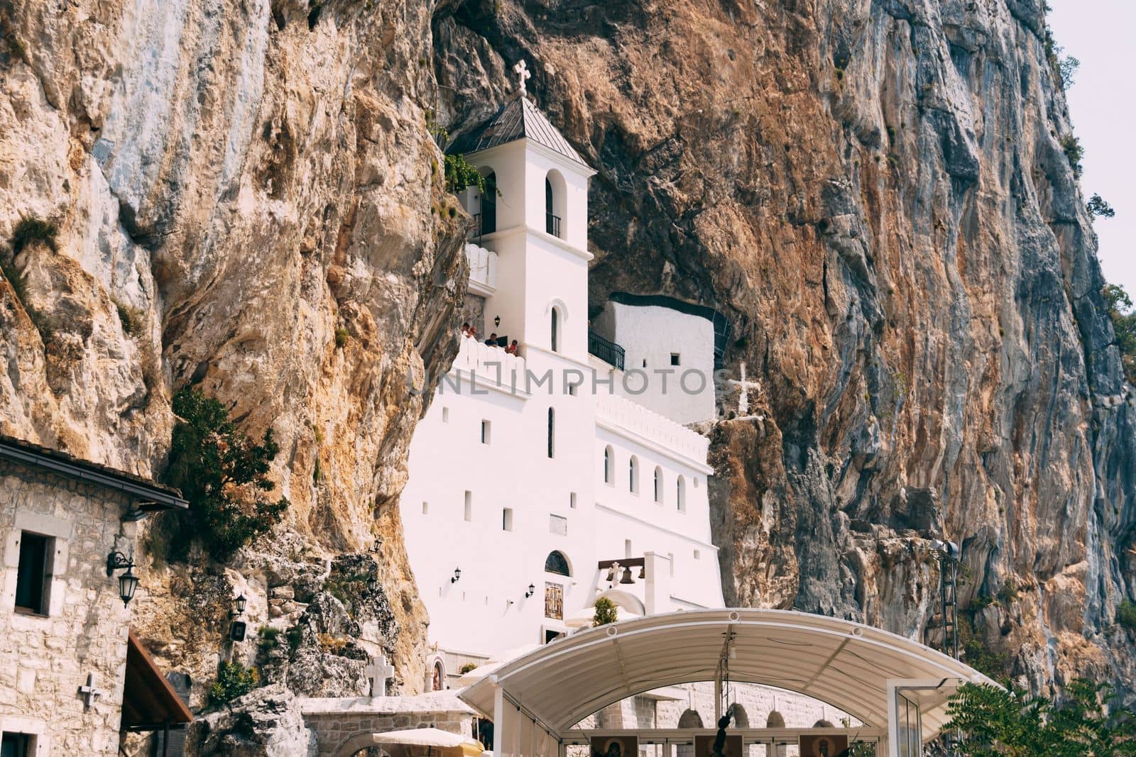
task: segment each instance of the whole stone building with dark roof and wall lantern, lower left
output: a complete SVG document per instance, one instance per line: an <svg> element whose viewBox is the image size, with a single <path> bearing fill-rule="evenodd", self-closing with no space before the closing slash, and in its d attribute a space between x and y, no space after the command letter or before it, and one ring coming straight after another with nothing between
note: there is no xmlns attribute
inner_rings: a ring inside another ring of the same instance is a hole
<svg viewBox="0 0 1136 757"><path fill-rule="evenodd" d="M144 478L0 436L3 757L115 755L122 729L189 720L128 640L133 569L110 566L132 561L137 521L186 506Z"/></svg>

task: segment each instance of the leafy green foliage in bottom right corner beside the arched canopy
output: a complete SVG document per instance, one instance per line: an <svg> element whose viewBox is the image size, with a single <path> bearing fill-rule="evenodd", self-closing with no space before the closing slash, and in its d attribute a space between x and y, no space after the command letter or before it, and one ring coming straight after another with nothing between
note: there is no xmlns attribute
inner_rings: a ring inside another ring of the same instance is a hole
<svg viewBox="0 0 1136 757"><path fill-rule="evenodd" d="M1064 701L1018 689L967 683L951 697L958 752L969 757L1119 757L1136 755L1136 714L1118 706L1108 684L1072 681Z"/></svg>

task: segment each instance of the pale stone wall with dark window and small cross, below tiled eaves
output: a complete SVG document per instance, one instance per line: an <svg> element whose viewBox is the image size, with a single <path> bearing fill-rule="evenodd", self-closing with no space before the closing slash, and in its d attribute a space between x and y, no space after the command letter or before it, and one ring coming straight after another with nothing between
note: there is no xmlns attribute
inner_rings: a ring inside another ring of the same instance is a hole
<svg viewBox="0 0 1136 757"><path fill-rule="evenodd" d="M36 734L34 754L115 755L131 613L105 565L128 554L118 493L0 461L0 729ZM55 538L48 614L15 612L22 531ZM78 692L89 673L102 695Z"/></svg>

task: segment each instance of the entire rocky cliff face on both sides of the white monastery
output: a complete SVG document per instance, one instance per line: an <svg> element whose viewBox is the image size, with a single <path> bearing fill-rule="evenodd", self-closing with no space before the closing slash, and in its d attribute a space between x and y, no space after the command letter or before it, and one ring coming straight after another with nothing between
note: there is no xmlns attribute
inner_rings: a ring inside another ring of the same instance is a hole
<svg viewBox="0 0 1136 757"><path fill-rule="evenodd" d="M428 121L471 128L524 58L600 171L593 303L712 305L762 384L712 430L727 597L918 634L943 533L1006 670L1136 680L1136 407L1043 30L1035 0L0 2L0 239L58 227L7 255L0 431L157 474L182 386L272 427L279 533L154 561L143 636L208 680L235 588L335 615L327 560L383 537L419 687L404 377L466 278Z"/></svg>

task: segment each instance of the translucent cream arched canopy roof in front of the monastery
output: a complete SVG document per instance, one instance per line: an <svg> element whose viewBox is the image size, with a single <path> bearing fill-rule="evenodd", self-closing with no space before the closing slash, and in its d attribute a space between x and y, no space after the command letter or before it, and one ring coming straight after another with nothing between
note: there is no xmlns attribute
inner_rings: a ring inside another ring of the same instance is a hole
<svg viewBox="0 0 1136 757"><path fill-rule="evenodd" d="M726 651L730 634L733 656ZM506 663L459 697L493 713L500 688L531 716L563 732L627 697L712 681L724 657L730 681L796 691L882 729L888 680L988 681L942 653L869 625L746 608L667 613L582 631ZM926 738L946 720L946 696L918 698Z"/></svg>

